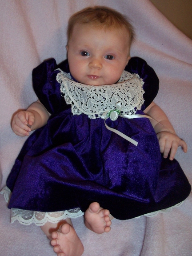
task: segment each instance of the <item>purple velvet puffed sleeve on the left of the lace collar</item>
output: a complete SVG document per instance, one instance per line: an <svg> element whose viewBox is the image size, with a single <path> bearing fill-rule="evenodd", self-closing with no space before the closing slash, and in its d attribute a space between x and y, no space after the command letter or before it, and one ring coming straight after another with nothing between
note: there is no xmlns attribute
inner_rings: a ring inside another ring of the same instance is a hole
<svg viewBox="0 0 192 256"><path fill-rule="evenodd" d="M59 71L56 69L56 60L49 59L32 71L34 91L40 102L51 114L57 114L69 108L60 93L60 84L56 81L56 75Z"/></svg>

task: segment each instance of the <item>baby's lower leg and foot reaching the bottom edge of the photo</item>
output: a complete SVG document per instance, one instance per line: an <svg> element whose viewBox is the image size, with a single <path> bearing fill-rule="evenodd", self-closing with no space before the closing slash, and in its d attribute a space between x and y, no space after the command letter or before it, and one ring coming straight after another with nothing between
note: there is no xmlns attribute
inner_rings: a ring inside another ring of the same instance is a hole
<svg viewBox="0 0 192 256"><path fill-rule="evenodd" d="M63 220L58 224L47 222L41 229L51 240L57 256L81 256L83 254L83 244L70 219Z"/></svg>

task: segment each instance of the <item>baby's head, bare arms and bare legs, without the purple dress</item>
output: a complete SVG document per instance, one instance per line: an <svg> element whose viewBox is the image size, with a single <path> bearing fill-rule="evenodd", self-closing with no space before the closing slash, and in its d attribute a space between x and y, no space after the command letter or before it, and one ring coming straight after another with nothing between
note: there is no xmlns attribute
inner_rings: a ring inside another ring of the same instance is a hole
<svg viewBox="0 0 192 256"><path fill-rule="evenodd" d="M115 10L86 8L73 15L68 24L67 57L72 80L89 86L116 84L130 60L134 38L131 24ZM43 102L41 100L41 102ZM18 112L12 120L12 129L19 136L28 136L32 130L47 124L50 114L37 100L26 111ZM152 117L152 126L164 158L173 160L177 148L187 152L187 144L174 131L165 113L153 101L144 113ZM156 121L155 121L156 120ZM65 194L63 195L65 200ZM186 197L186 196L185 196ZM110 231L113 216L98 202L92 202L84 213L85 225L96 233ZM57 256L80 256L83 244L70 218L58 223L47 222L42 227L50 238Z"/></svg>

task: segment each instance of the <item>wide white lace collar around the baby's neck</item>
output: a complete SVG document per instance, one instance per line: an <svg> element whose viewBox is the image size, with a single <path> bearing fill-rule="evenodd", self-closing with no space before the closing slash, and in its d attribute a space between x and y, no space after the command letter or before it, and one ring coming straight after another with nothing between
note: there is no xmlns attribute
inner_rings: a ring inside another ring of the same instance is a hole
<svg viewBox="0 0 192 256"><path fill-rule="evenodd" d="M123 115L135 114L144 103L144 82L137 74L124 71L117 84L93 86L77 83L70 74L58 70L56 80L66 103L72 105L73 115L84 113L95 119L116 108L117 102L122 104Z"/></svg>

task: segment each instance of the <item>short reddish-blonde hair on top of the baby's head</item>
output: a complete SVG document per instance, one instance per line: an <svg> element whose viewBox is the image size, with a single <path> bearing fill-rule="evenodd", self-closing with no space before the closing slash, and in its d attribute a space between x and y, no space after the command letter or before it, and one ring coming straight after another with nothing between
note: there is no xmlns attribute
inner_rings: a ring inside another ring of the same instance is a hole
<svg viewBox="0 0 192 256"><path fill-rule="evenodd" d="M98 28L125 28L129 35L129 43L134 39L134 29L127 17L120 12L104 6L88 7L71 16L68 22L68 41L70 40L75 24L92 23Z"/></svg>

